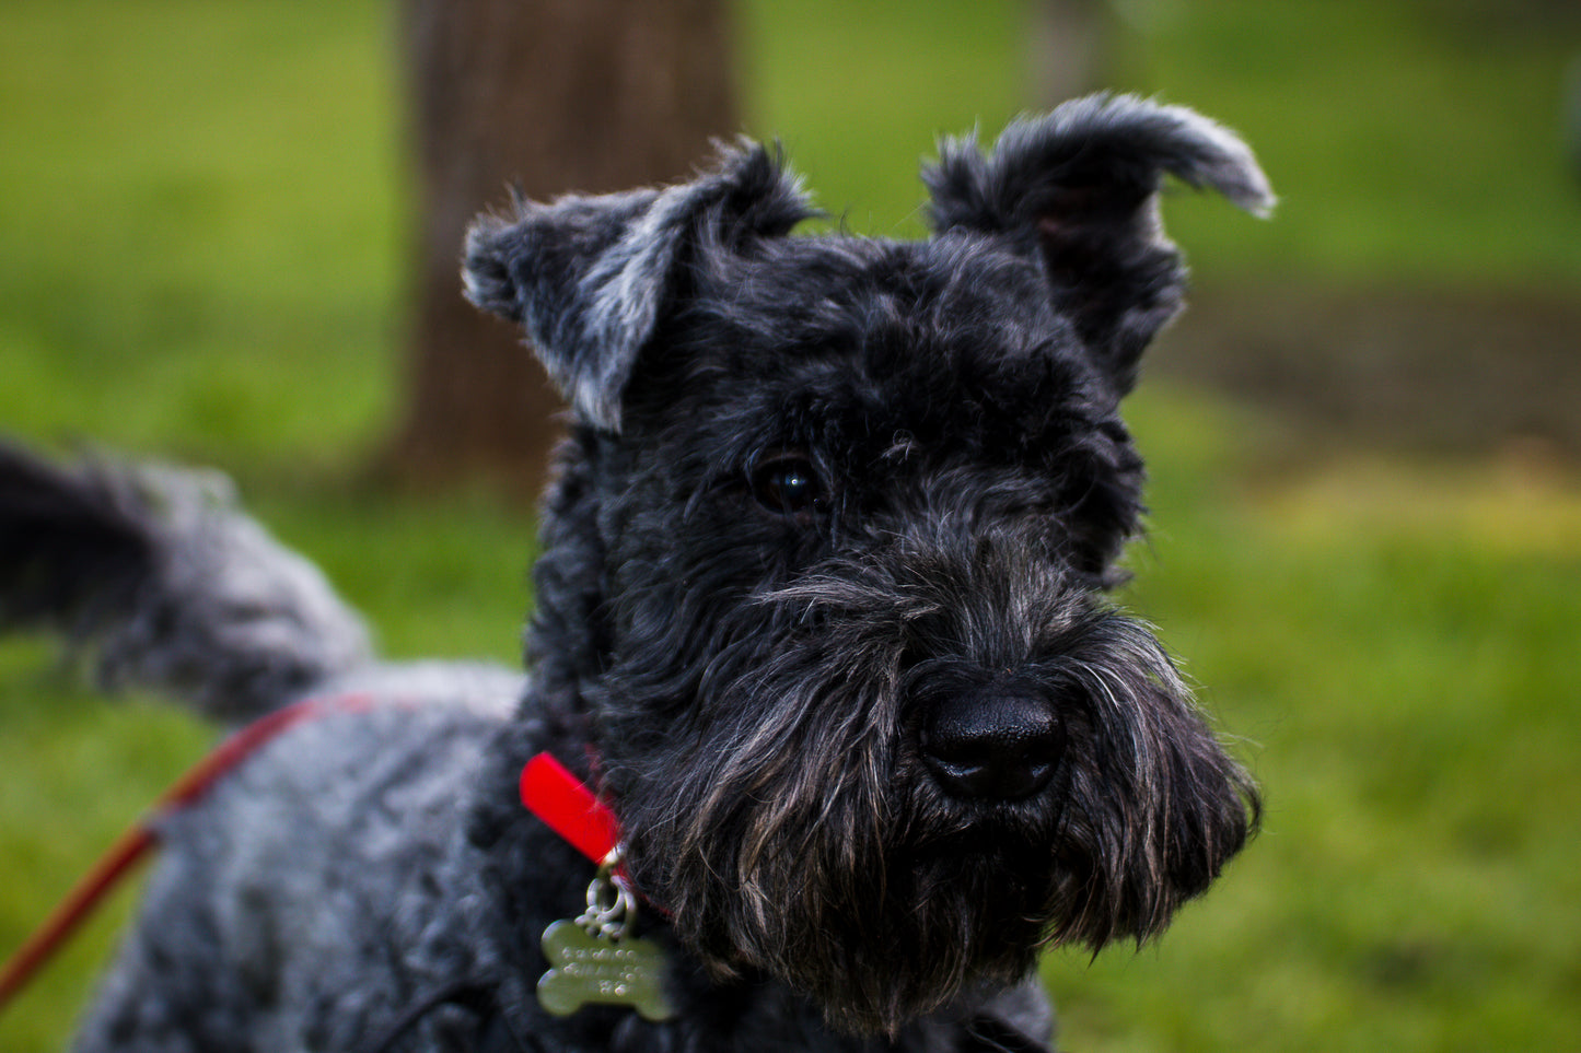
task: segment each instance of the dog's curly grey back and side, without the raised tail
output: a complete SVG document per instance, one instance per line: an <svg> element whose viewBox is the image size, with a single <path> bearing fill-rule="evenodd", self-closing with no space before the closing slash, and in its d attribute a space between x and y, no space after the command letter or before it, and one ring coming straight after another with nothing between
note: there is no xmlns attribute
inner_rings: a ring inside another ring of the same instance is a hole
<svg viewBox="0 0 1581 1053"><path fill-rule="evenodd" d="M468 699L451 672L433 694L348 685L330 697L372 705L296 724L161 822L77 1050L364 1048L398 999L476 971L465 813L512 685L479 674Z"/></svg>

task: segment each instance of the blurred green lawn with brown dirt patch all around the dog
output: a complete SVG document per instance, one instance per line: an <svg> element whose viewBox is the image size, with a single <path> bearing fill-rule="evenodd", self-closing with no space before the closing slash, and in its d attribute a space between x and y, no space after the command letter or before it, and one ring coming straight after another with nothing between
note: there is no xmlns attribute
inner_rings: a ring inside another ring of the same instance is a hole
<svg viewBox="0 0 1581 1053"><path fill-rule="evenodd" d="M1050 955L1061 1047L1578 1048L1575 5L1113 8L1104 81L1238 128L1282 194L1271 223L1165 206L1202 307L1134 400L1153 530L1124 596L1268 816L1162 942ZM854 231L917 234L934 136L1047 103L1029 24L741 0L748 128ZM0 430L223 466L391 653L514 661L528 515L365 482L414 225L394 40L383 0L6 0ZM0 645L0 952L210 740L73 683ZM0 1048L60 1048L128 903Z"/></svg>

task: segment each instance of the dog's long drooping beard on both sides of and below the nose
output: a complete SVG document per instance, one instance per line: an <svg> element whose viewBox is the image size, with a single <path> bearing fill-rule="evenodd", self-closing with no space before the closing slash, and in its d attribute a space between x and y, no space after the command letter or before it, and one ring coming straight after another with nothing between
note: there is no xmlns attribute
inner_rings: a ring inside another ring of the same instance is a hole
<svg viewBox="0 0 1581 1053"><path fill-rule="evenodd" d="M636 881L716 979L772 976L854 1032L1013 982L1050 944L1157 934L1241 847L1255 791L1151 634L1097 609L1062 634L1028 669L1070 746L1021 802L926 775L898 648L825 625L713 685L674 767L623 779Z"/></svg>

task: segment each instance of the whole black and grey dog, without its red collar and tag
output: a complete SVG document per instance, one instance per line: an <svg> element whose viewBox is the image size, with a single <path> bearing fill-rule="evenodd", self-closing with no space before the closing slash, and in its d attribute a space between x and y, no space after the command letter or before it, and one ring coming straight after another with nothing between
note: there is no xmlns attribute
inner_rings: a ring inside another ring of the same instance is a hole
<svg viewBox="0 0 1581 1053"><path fill-rule="evenodd" d="M526 685L375 662L179 476L0 460L14 620L226 719L329 700L168 821L81 1047L1042 1048L1037 952L1157 934L1255 825L1102 599L1141 514L1118 403L1183 288L1165 172L1271 199L1217 125L1099 98L950 145L925 242L786 237L754 147L482 220L468 294L575 416ZM596 871L517 798L541 753L618 814L640 908L594 941L653 941L664 1020L534 998Z"/></svg>

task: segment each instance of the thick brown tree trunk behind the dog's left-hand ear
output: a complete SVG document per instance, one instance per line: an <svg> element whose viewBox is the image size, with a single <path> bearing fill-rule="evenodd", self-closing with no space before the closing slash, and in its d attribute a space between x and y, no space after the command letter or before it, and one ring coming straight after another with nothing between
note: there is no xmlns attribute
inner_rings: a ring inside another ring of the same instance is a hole
<svg viewBox="0 0 1581 1053"><path fill-rule="evenodd" d="M391 470L536 495L563 403L520 334L462 299L471 218L686 176L737 131L724 0L406 0L421 266Z"/></svg>

